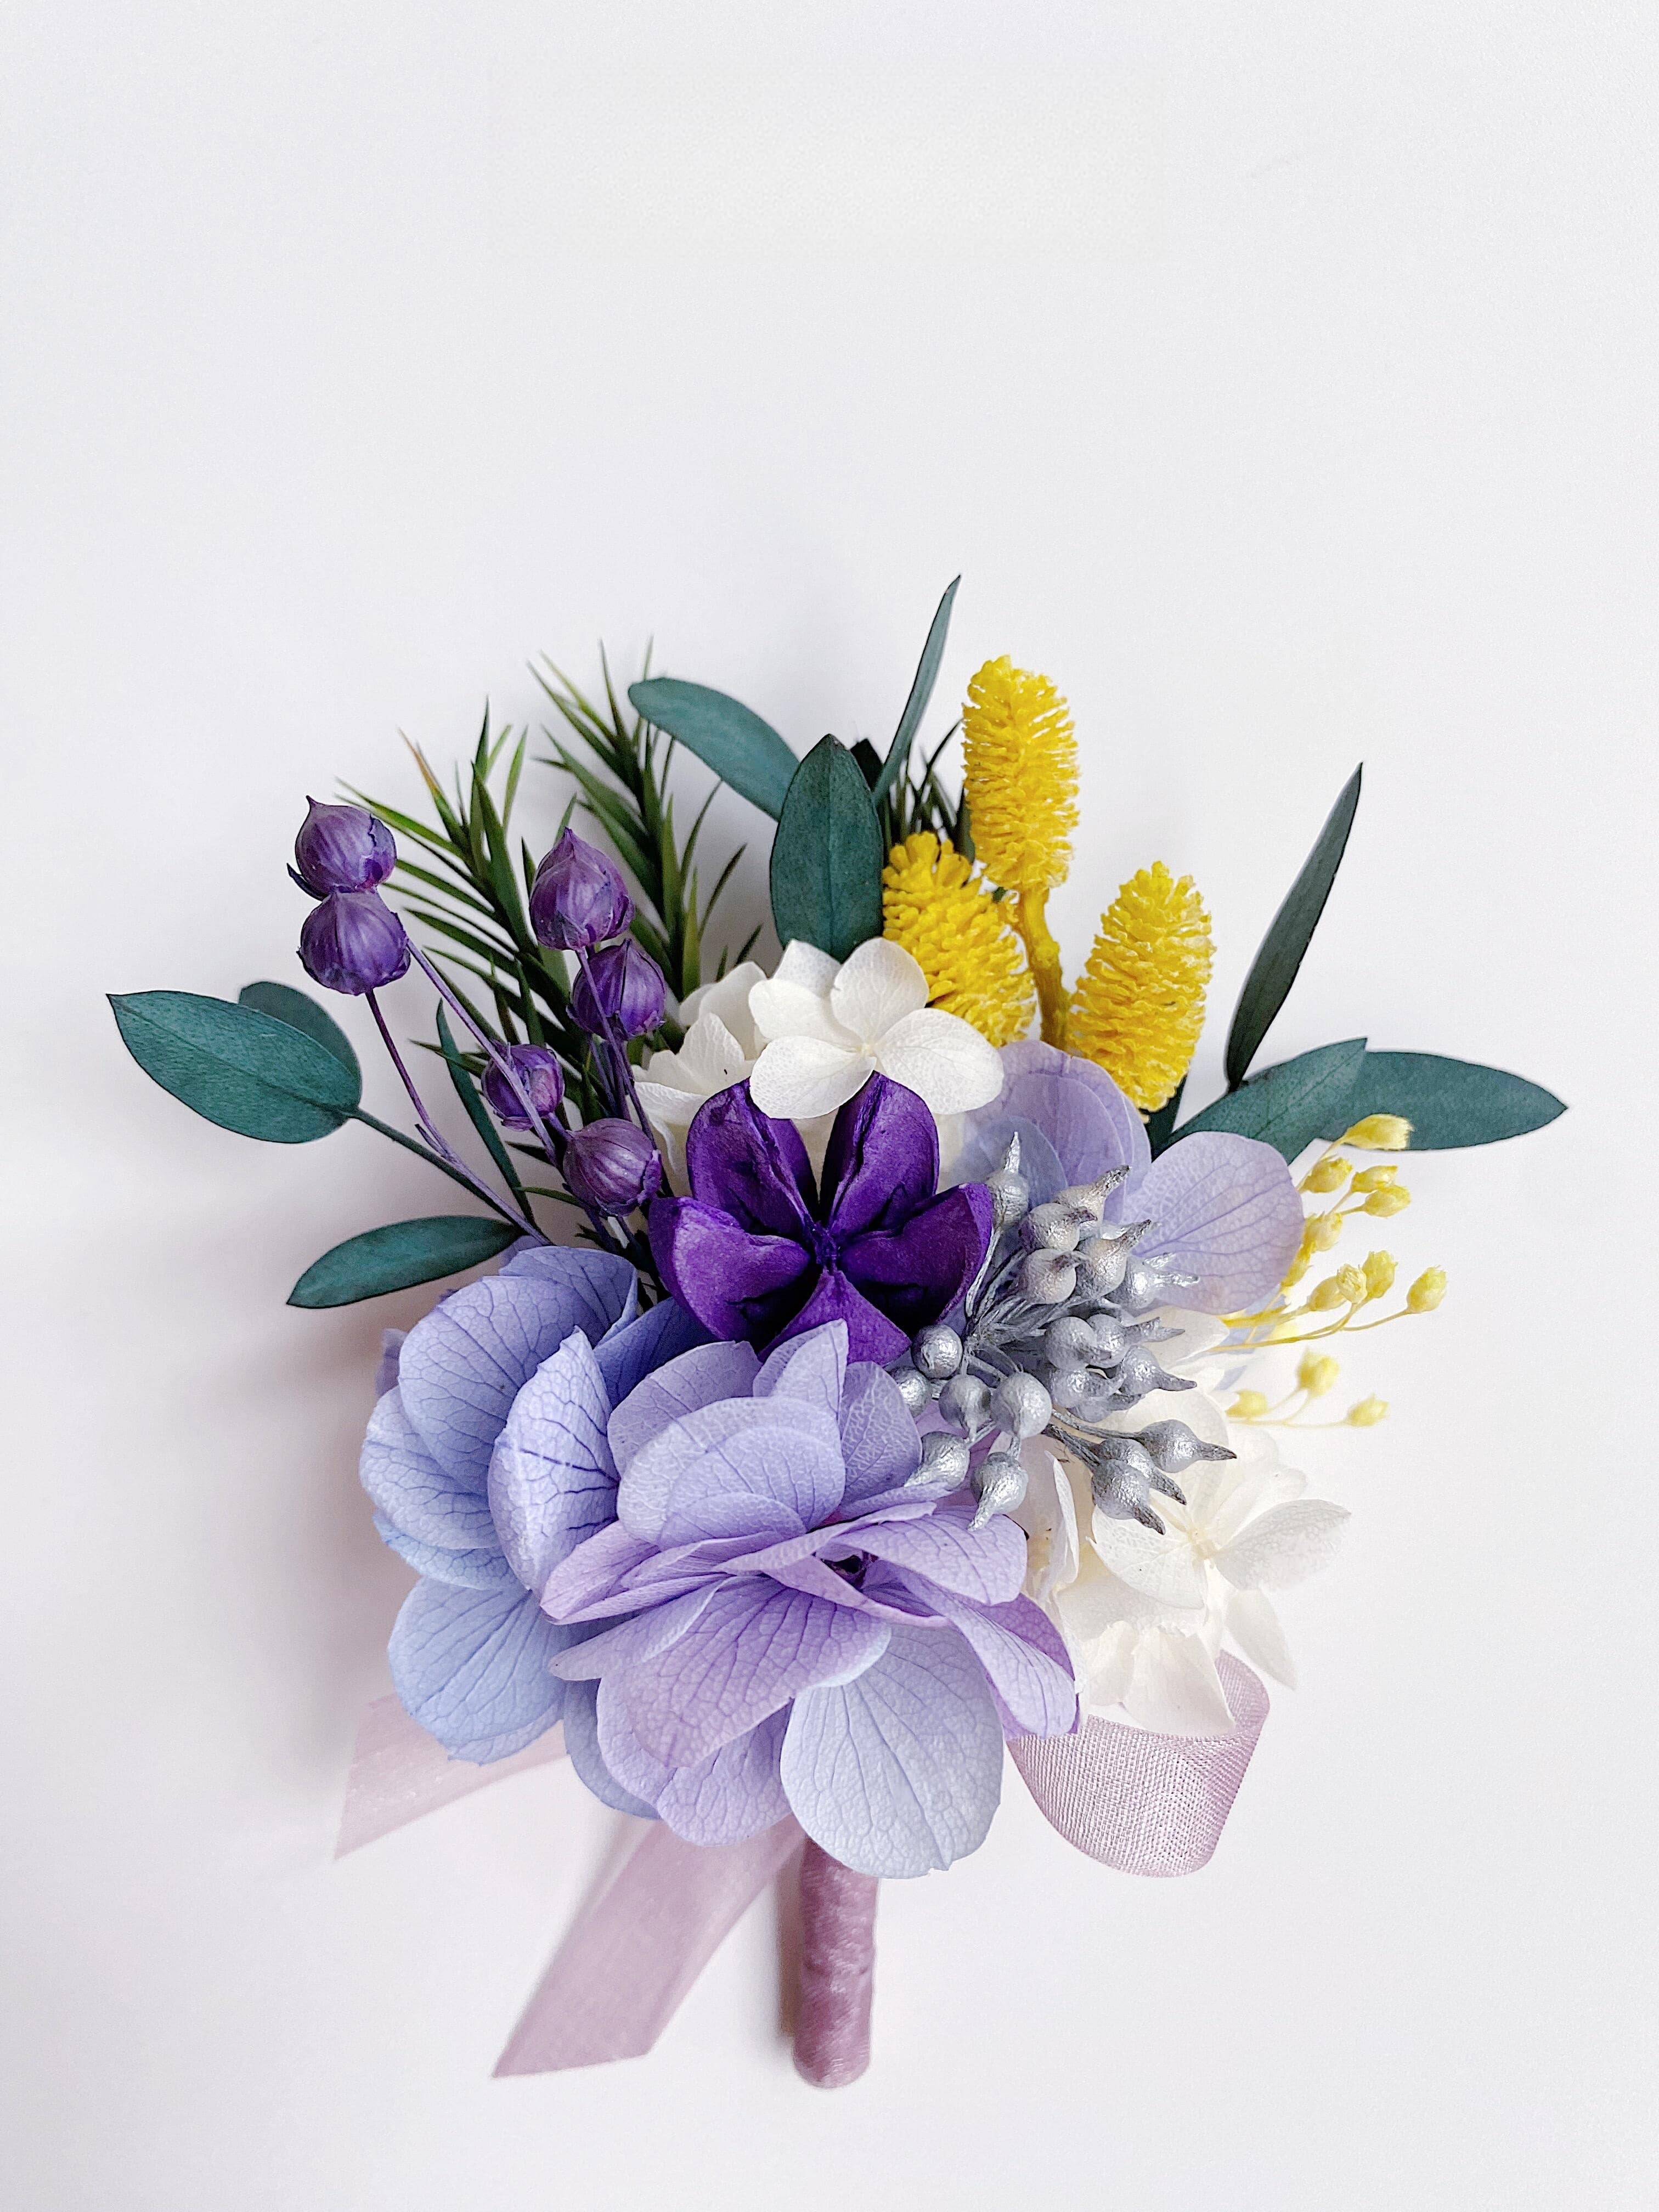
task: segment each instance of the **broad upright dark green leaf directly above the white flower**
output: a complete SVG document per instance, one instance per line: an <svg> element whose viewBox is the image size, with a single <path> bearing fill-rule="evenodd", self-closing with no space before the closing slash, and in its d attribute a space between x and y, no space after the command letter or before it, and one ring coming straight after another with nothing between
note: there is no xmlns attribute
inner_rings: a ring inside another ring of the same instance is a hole
<svg viewBox="0 0 1659 2212"><path fill-rule="evenodd" d="M821 739L796 768L772 838L779 945L805 938L845 960L880 936L880 818L854 757Z"/></svg>

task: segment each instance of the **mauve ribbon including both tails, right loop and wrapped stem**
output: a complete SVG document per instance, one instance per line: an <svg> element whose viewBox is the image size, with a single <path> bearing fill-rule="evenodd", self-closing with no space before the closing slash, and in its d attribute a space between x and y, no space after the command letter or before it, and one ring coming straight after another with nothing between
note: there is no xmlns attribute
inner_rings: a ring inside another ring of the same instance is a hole
<svg viewBox="0 0 1659 2212"><path fill-rule="evenodd" d="M1088 1721L1075 1736L1022 1736L1009 1745L1066 1843L1124 1874L1197 1874L1208 1865L1267 1719L1267 1692L1250 1668L1225 1652L1219 1668L1237 1721L1230 1736L1157 1736ZM562 1756L564 1736L555 1728L513 1759L473 1767L449 1759L396 1697L380 1697L358 1730L334 1856ZM728 1845L684 1843L653 1823L560 1944L495 2073L560 2073L644 2057L801 1845L794 1820ZM876 1882L845 1867L834 1867L834 1876L845 1880L832 1882L834 1898L825 1893L821 1902L836 1911L807 1916L816 1933L807 1929L796 2026L796 2064L825 2088L865 2070L874 1966Z"/></svg>

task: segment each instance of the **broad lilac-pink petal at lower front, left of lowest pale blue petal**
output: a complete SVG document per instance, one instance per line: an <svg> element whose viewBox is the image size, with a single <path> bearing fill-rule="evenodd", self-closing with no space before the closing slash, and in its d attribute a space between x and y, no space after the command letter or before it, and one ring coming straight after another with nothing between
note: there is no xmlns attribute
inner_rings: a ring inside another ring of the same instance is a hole
<svg viewBox="0 0 1659 2212"><path fill-rule="evenodd" d="M619 1635L626 1628L595 1641ZM863 1674L887 1635L887 1624L865 1613L743 1577L714 1593L688 1635L611 1674L611 1683L641 1747L688 1767L801 1690Z"/></svg>

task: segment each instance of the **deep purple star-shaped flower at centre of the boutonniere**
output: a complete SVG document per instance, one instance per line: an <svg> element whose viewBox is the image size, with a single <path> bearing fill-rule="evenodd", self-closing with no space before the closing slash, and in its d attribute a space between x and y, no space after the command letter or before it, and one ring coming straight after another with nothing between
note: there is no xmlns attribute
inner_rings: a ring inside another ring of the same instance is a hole
<svg viewBox="0 0 1659 2212"><path fill-rule="evenodd" d="M794 1124L763 1115L748 1084L697 1113L686 1168L692 1194L650 1208L650 1250L712 1336L768 1345L843 1321L849 1358L896 1360L991 1241L991 1194L936 1194L933 1115L887 1075L836 1115L821 1186Z"/></svg>

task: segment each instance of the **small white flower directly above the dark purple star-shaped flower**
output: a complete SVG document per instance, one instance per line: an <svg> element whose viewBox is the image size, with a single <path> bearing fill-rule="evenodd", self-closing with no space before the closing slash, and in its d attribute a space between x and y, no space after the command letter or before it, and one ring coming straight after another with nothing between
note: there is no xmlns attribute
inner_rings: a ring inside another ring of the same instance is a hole
<svg viewBox="0 0 1659 2212"><path fill-rule="evenodd" d="M750 1095L785 1121L834 1113L876 1073L916 1091L940 1124L1002 1091L995 1046L929 1006L920 964L887 938L869 938L845 962L790 945L776 975L750 991L750 1013L763 1040Z"/></svg>

